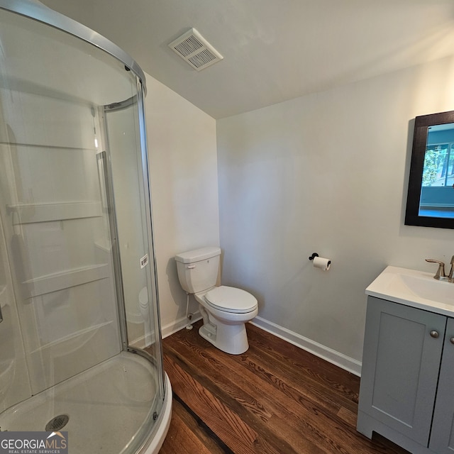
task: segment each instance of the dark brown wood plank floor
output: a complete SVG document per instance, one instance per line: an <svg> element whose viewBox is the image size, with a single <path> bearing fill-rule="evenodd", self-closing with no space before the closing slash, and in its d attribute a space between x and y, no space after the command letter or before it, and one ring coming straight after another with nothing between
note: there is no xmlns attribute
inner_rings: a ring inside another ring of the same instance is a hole
<svg viewBox="0 0 454 454"><path fill-rule="evenodd" d="M228 355L200 323L163 341L174 399L160 454L406 453L355 431L355 375L250 323L249 350Z"/></svg>

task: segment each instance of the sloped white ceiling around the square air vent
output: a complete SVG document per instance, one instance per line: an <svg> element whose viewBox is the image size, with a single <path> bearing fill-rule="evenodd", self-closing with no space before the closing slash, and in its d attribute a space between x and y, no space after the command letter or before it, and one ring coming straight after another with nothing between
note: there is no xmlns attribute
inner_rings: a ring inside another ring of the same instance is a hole
<svg viewBox="0 0 454 454"><path fill-rule="evenodd" d="M41 0L214 118L454 54L453 0ZM168 44L196 28L223 60Z"/></svg>

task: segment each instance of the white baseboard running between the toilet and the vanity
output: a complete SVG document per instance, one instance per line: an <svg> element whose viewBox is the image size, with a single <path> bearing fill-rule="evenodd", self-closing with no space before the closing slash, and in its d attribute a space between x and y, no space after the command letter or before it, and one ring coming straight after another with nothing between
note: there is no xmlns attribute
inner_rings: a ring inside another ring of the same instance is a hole
<svg viewBox="0 0 454 454"><path fill-rule="evenodd" d="M287 328L282 328L282 326L262 319L262 317L257 316L253 319L253 321L250 321L250 323L268 331L268 333L272 333L275 336L284 339L284 341L297 345L297 347L302 348L303 350L306 350L323 360L342 367L343 369L348 370L348 372L358 375L358 377L361 376L362 363L358 360L354 360L353 358L343 355L343 353L339 353L336 350L326 347L325 345L311 341L311 339L294 333Z"/></svg>

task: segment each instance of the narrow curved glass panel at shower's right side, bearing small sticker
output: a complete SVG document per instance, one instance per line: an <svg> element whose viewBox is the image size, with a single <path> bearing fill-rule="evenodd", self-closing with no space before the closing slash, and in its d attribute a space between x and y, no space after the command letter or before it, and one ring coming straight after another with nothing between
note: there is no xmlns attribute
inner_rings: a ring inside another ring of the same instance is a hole
<svg viewBox="0 0 454 454"><path fill-rule="evenodd" d="M141 96L139 90L138 96ZM145 147L138 128L138 96L104 107L104 125L116 207L116 244L121 258L121 282L126 326L126 347L161 356L160 326L155 288L155 258L150 226L147 162L138 153ZM162 382L162 365L156 365Z"/></svg>

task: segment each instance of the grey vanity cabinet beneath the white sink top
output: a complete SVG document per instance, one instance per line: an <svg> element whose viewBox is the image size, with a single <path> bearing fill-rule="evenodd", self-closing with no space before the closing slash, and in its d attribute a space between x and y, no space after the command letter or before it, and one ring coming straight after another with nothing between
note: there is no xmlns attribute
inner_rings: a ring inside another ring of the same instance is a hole
<svg viewBox="0 0 454 454"><path fill-rule="evenodd" d="M358 431L453 454L453 423L454 319L368 297Z"/></svg>

